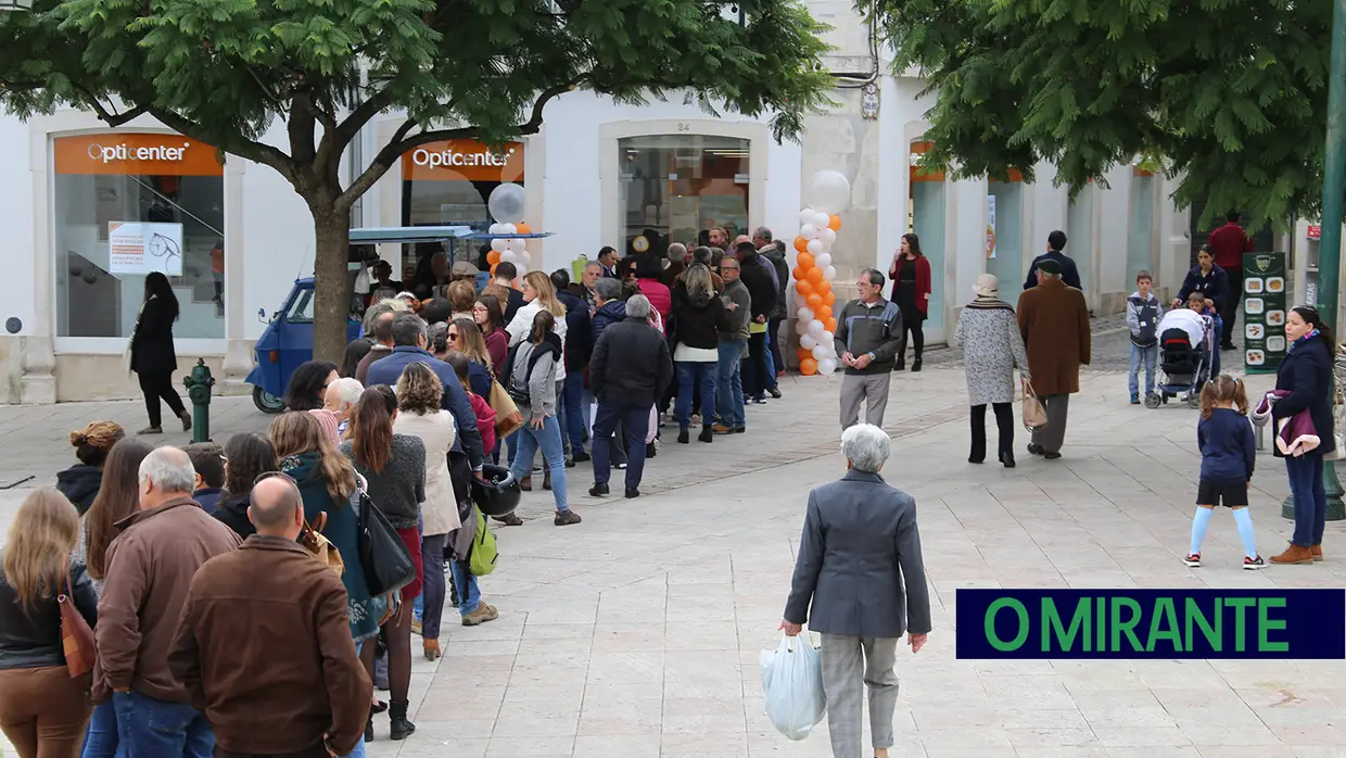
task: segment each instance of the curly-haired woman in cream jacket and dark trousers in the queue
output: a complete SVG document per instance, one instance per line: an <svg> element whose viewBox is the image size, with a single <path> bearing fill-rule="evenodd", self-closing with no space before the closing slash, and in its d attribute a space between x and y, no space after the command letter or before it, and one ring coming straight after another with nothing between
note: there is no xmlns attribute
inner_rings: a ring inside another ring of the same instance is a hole
<svg viewBox="0 0 1346 758"><path fill-rule="evenodd" d="M425 658L439 658L439 618L444 613L444 547L450 532L462 526L458 498L448 475L454 447L454 416L440 408L444 385L425 364L412 364L397 380L397 419L393 435L419 438L425 446L425 498L421 501L421 648Z"/></svg>

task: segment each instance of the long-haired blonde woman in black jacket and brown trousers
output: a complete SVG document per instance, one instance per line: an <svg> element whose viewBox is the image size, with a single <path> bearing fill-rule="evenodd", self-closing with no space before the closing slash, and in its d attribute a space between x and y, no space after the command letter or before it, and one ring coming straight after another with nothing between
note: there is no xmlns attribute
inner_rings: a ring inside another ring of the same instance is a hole
<svg viewBox="0 0 1346 758"><path fill-rule="evenodd" d="M74 758L93 707L66 669L61 606L67 595L89 626L98 598L71 564L79 513L52 487L19 506L0 555L0 730L19 758Z"/></svg>

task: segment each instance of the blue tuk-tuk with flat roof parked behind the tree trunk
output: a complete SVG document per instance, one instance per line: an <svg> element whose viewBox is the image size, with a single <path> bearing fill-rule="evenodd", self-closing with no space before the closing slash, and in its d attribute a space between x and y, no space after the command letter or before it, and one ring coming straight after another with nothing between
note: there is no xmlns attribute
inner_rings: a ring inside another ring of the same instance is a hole
<svg viewBox="0 0 1346 758"><path fill-rule="evenodd" d="M509 234L510 238L549 237L548 232L530 234ZM353 245L380 242L415 244L444 242L450 240L486 240L499 234L475 232L471 226L393 226L363 228L350 230ZM258 311L265 320L265 311ZM295 287L285 298L285 304L267 322L254 347L257 365L248 374L253 385L253 405L264 413L280 413L285 409L284 394L289 386L289 376L300 364L314 358L314 277L296 279ZM358 339L362 329L358 315L346 322L346 341Z"/></svg>

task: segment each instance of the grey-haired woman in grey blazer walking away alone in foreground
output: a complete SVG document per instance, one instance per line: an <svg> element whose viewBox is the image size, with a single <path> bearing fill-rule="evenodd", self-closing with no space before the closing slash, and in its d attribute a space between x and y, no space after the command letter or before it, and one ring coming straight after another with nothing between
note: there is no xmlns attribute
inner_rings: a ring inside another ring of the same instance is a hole
<svg viewBox="0 0 1346 758"><path fill-rule="evenodd" d="M887 758L898 704L898 675L892 670L898 640L906 631L915 653L930 633L917 501L879 475L890 448L891 440L879 427L856 424L841 432L847 473L809 493L800 557L781 622L790 637L805 621L822 634L822 691L837 758L861 754L865 687L874 754Z"/></svg>

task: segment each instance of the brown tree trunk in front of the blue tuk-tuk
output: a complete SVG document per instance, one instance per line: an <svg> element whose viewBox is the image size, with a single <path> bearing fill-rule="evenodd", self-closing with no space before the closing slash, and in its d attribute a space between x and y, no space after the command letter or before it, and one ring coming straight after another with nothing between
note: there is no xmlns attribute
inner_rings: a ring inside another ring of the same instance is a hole
<svg viewBox="0 0 1346 758"><path fill-rule="evenodd" d="M314 359L341 365L350 312L350 214L314 205Z"/></svg>

